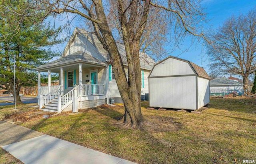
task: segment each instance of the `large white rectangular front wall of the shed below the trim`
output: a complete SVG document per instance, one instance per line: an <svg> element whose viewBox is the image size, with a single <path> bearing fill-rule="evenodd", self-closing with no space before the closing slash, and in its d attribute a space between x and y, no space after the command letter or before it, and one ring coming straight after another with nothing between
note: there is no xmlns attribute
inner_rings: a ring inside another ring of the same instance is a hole
<svg viewBox="0 0 256 164"><path fill-rule="evenodd" d="M152 107L196 109L196 76L149 79Z"/></svg>

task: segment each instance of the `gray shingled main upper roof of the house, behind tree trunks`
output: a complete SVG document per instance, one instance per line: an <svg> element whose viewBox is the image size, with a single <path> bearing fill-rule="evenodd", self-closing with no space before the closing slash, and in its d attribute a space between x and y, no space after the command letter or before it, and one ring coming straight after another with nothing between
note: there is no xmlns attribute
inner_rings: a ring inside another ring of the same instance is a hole
<svg viewBox="0 0 256 164"><path fill-rule="evenodd" d="M77 30L81 35L84 35L84 37L86 37L88 41L90 41L95 46L95 48L101 53L101 55L105 57L106 60L109 60L108 52L103 48L102 44L100 43L100 41L98 40L97 36L94 33L90 33L80 28L77 28ZM126 59L126 52L124 49L124 45L120 43L117 43L116 45L121 55L123 64L127 66L127 59ZM102 61L102 62L105 62L105 61ZM150 58L148 55L146 55L146 53L140 52L141 68L151 70L155 63L156 62L152 58Z"/></svg>

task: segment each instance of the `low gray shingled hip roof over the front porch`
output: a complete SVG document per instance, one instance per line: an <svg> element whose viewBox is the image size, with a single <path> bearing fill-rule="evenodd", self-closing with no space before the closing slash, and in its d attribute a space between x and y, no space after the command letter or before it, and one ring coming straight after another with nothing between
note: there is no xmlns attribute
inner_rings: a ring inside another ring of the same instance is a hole
<svg viewBox="0 0 256 164"><path fill-rule="evenodd" d="M48 62L42 66L38 66L37 68L35 68L35 70L41 70L44 68L54 67L54 66L61 66L65 64L70 64L72 62L90 62L90 63L105 65L104 62L99 61L98 59L92 57L91 55L84 53L82 51L78 51L68 56L61 57L60 59L54 60L52 62Z"/></svg>

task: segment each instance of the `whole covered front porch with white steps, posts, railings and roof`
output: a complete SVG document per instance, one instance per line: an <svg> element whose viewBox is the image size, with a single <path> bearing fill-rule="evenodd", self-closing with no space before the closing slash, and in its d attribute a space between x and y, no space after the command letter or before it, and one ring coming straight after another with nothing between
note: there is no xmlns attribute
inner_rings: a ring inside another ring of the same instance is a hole
<svg viewBox="0 0 256 164"><path fill-rule="evenodd" d="M69 60L66 58L62 57L36 68L40 109L58 113L67 110L76 112L78 109L104 104L106 64L98 60L93 61L94 59L90 62L88 59L72 62L76 57ZM41 86L42 72L48 73L47 86ZM59 85L51 86L51 73L59 74Z"/></svg>

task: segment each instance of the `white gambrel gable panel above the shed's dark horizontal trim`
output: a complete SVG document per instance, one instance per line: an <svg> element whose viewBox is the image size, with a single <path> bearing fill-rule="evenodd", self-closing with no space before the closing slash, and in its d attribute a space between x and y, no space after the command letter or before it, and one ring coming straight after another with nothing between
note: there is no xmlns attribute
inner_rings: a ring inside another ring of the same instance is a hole
<svg viewBox="0 0 256 164"><path fill-rule="evenodd" d="M195 74L187 62L169 58L154 66L150 77Z"/></svg>

